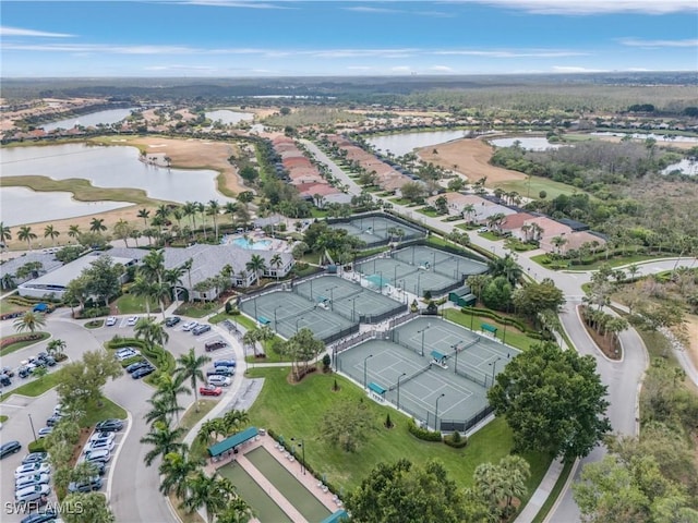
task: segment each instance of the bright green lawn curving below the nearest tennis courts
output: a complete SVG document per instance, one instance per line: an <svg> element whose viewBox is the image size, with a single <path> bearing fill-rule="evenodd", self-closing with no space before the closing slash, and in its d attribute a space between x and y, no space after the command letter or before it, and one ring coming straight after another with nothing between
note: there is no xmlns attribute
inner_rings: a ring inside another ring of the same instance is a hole
<svg viewBox="0 0 698 523"><path fill-rule="evenodd" d="M416 463L438 459L459 485L468 486L476 466L488 461L497 462L512 450L512 431L504 419L495 419L479 430L465 449L453 449L414 438L407 430L407 416L366 399L360 388L341 376L313 374L301 384L289 385L287 367L257 368L250 374L265 378L264 388L250 409L252 425L272 428L286 439L304 438L309 464L318 474L326 474L327 482L335 488L354 488L376 463L405 457ZM336 392L332 390L335 379L340 388ZM339 450L321 437L325 413L337 409L345 400L364 402L373 419L374 429L356 453ZM383 427L387 413L395 423L389 430ZM525 498L528 501L551 460L540 453L525 454L525 458L532 472L529 494Z"/></svg>

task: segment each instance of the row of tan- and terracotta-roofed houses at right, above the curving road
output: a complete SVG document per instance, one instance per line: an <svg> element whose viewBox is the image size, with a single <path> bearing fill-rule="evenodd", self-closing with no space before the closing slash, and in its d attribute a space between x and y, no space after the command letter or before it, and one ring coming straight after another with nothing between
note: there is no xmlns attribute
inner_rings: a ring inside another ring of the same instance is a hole
<svg viewBox="0 0 698 523"><path fill-rule="evenodd" d="M565 253L578 250L585 244L601 246L605 239L589 230L585 223L575 220L554 220L539 212L522 211L476 194L444 193L431 196L426 202L434 206L440 197L445 197L448 214L462 216L468 221L480 223L502 233L508 233L522 242L538 241L549 253Z"/></svg>

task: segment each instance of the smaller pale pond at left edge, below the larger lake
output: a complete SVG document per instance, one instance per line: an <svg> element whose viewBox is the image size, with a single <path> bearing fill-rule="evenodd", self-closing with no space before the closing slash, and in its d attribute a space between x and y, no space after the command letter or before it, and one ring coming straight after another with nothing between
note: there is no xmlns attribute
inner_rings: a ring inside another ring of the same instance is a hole
<svg viewBox="0 0 698 523"><path fill-rule="evenodd" d="M129 202L77 202L71 193L37 193L28 187L0 188L0 203L5 227L96 215L133 205ZM40 231L34 232L41 235Z"/></svg>

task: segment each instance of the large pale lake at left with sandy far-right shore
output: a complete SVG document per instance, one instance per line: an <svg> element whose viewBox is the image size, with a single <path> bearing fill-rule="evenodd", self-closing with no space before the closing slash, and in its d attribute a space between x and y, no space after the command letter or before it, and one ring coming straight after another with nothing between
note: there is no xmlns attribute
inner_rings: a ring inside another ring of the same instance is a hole
<svg viewBox="0 0 698 523"><path fill-rule="evenodd" d="M156 150L156 149L153 149ZM229 200L216 190L216 171L167 169L139 160L140 153L128 146L87 146L85 144L12 147L2 149L2 177L44 175L55 180L83 178L99 187L135 187L152 198L171 202ZM5 187L0 188L4 203ZM34 222L35 208L46 205L44 195L34 193L34 203L25 202L19 222ZM39 196L40 195L40 196ZM79 205L77 203L75 203ZM22 210L22 209L20 209ZM89 214L82 212L81 214ZM2 215L5 215L3 205ZM79 216L79 215L74 215Z"/></svg>

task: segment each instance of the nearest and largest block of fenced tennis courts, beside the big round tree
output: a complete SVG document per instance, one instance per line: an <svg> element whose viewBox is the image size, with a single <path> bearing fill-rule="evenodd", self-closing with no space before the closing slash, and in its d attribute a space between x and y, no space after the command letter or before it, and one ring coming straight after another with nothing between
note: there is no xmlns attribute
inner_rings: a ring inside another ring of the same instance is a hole
<svg viewBox="0 0 698 523"><path fill-rule="evenodd" d="M409 321L390 336L339 353L338 368L431 427L436 417L440 428L467 427L488 409L496 374L518 354L438 317Z"/></svg>

